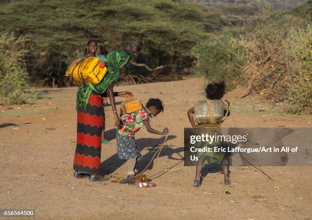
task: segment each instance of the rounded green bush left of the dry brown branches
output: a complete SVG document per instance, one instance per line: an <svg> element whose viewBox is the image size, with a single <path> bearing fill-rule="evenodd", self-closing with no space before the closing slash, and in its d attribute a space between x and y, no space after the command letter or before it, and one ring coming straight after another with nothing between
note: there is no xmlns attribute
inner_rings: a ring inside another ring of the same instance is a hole
<svg viewBox="0 0 312 220"><path fill-rule="evenodd" d="M240 84L247 52L244 46L229 32L215 40L197 44L192 49L195 57L192 72L204 76L209 81L225 81L227 90Z"/></svg>

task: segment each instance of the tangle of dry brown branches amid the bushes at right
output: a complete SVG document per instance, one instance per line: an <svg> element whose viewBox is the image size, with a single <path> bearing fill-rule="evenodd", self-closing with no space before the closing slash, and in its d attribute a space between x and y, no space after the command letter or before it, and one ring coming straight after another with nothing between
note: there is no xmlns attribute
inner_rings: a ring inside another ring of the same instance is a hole
<svg viewBox="0 0 312 220"><path fill-rule="evenodd" d="M271 45L257 41L251 45L244 71L248 87L243 97L254 92L275 102L283 101L287 96L285 91L289 90L289 84L284 83L289 81L289 73L282 42Z"/></svg>

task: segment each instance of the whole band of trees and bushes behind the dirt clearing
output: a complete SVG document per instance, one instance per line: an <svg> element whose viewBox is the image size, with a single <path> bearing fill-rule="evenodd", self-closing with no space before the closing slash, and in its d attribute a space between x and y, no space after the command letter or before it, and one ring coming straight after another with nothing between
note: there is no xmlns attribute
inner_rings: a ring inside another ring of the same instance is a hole
<svg viewBox="0 0 312 220"><path fill-rule="evenodd" d="M94 38L99 53L123 49L132 55L121 76L125 83L192 72L225 80L229 90L245 87L244 96L284 102L289 112L311 113L312 1L292 9L303 2L4 0L1 96L24 103L30 85L66 85L68 65Z"/></svg>

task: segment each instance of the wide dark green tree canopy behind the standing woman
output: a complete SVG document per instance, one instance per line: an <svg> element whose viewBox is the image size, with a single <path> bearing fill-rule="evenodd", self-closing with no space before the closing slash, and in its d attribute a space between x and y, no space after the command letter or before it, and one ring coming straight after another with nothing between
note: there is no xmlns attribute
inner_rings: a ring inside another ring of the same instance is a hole
<svg viewBox="0 0 312 220"><path fill-rule="evenodd" d="M124 49L150 68L172 65L157 72L172 74L191 67L190 49L224 21L218 11L170 0L29 0L2 5L0 23L0 32L30 39L26 65L38 84L64 85L64 71L90 38L102 54ZM126 71L147 72L134 66Z"/></svg>

